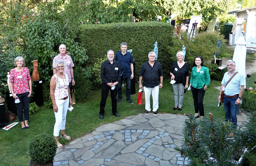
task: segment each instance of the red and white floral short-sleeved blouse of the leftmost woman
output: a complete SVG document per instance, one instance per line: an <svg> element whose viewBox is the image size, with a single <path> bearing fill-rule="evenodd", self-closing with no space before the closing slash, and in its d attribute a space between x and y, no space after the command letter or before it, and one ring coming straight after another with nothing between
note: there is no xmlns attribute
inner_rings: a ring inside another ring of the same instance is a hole
<svg viewBox="0 0 256 166"><path fill-rule="evenodd" d="M10 71L10 82L13 82L13 92L16 94L24 94L28 92L28 80L31 79L30 73L27 67L23 67L20 72L14 69Z"/></svg>

